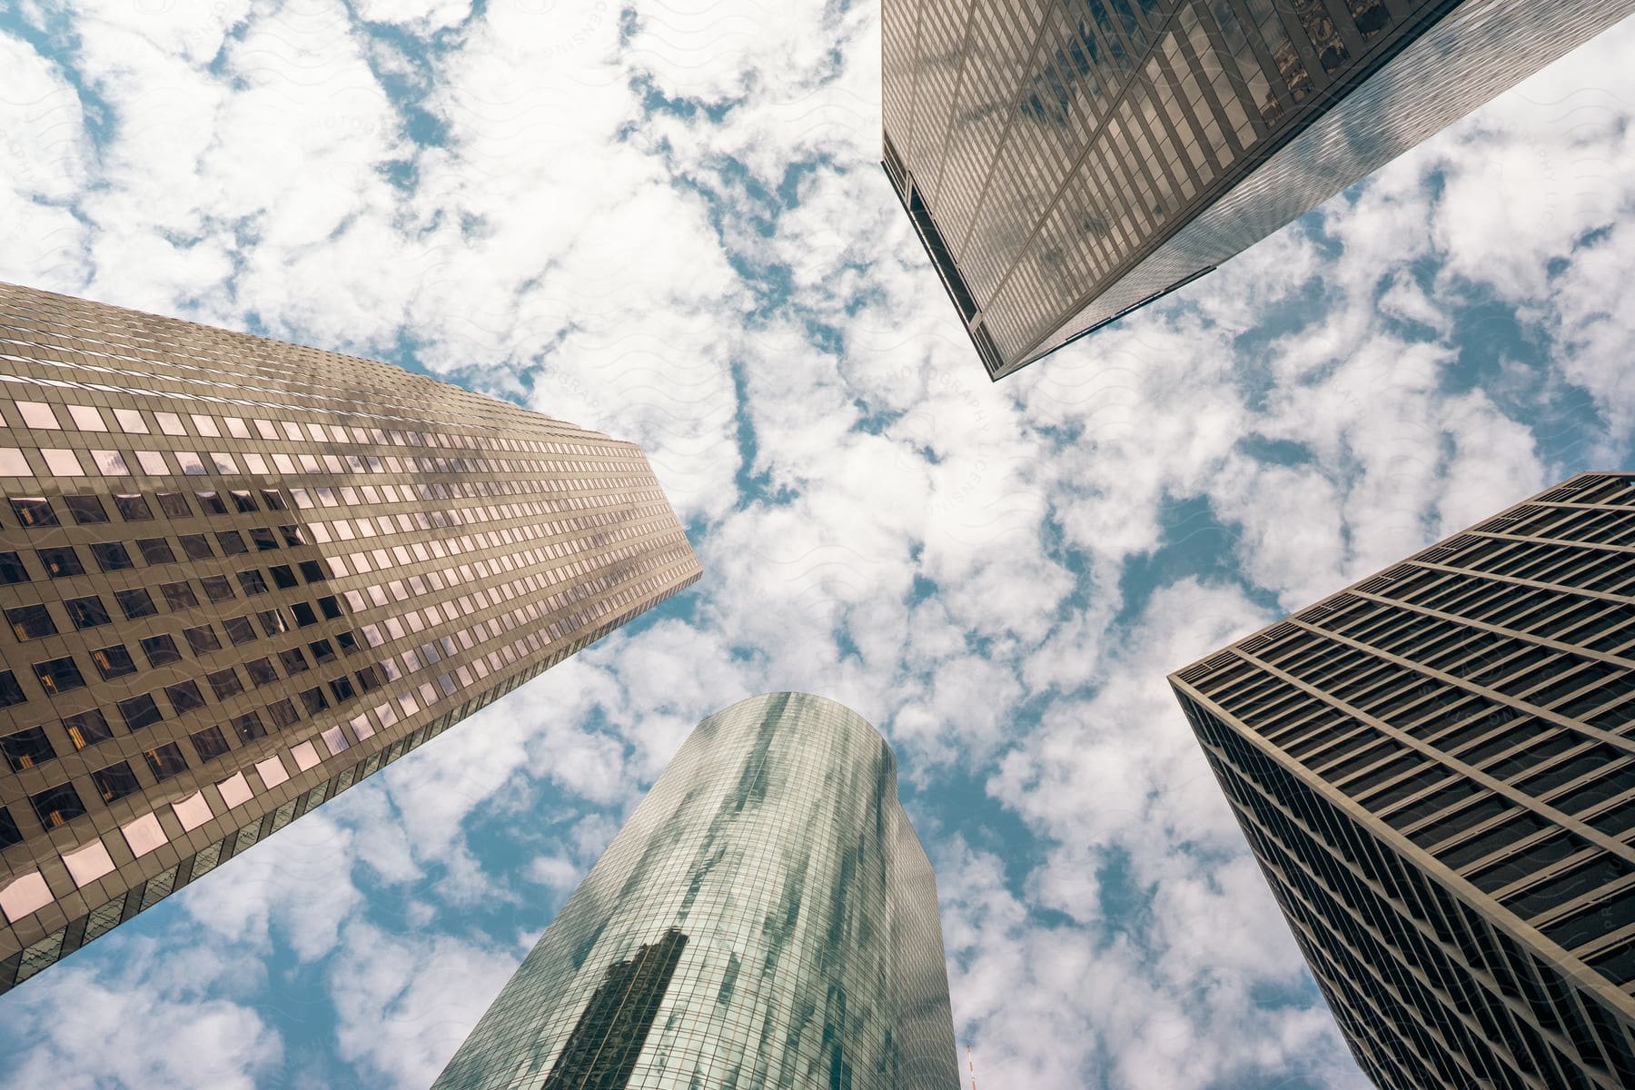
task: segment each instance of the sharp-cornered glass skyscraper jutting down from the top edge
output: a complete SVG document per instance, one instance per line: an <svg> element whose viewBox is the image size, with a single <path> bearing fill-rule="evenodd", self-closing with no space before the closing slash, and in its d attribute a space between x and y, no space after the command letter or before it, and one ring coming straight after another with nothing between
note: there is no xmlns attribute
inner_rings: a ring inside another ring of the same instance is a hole
<svg viewBox="0 0 1635 1090"><path fill-rule="evenodd" d="M1208 273L1630 0L883 0L885 167L994 379Z"/></svg>

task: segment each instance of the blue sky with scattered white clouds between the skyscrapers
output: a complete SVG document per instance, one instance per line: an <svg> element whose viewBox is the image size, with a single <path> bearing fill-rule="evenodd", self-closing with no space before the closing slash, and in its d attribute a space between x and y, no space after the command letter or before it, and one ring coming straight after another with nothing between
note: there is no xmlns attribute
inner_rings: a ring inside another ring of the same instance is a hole
<svg viewBox="0 0 1635 1090"><path fill-rule="evenodd" d="M0 997L0 1085L420 1088L701 717L875 722L984 1088L1362 1090L1166 673L1635 443L1635 23L999 384L878 5L0 7L0 279L639 443L703 580Z"/></svg>

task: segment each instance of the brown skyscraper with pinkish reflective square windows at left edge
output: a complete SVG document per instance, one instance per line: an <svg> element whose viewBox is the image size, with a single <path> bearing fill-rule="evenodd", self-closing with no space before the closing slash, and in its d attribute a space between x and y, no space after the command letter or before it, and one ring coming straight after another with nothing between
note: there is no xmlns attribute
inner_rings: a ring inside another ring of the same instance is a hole
<svg viewBox="0 0 1635 1090"><path fill-rule="evenodd" d="M0 286L0 990L695 582L641 451Z"/></svg>

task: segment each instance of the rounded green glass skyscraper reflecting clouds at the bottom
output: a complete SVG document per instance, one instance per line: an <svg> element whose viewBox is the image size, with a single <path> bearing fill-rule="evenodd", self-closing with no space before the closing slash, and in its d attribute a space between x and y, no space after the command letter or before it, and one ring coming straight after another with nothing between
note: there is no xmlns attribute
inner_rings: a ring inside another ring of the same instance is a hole
<svg viewBox="0 0 1635 1090"><path fill-rule="evenodd" d="M435 1087L958 1090L955 1064L891 748L773 693L693 729Z"/></svg>

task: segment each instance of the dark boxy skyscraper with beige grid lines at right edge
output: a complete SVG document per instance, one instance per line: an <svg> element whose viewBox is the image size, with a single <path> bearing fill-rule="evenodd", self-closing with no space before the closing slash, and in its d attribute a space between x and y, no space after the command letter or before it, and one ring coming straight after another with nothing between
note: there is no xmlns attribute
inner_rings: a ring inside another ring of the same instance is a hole
<svg viewBox="0 0 1635 1090"><path fill-rule="evenodd" d="M1375 1083L1635 1085L1635 476L1171 685Z"/></svg>

